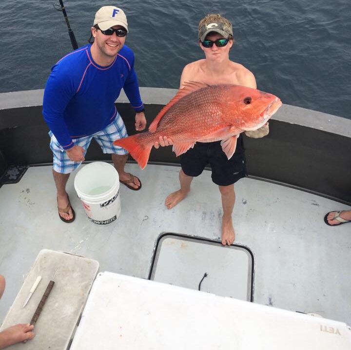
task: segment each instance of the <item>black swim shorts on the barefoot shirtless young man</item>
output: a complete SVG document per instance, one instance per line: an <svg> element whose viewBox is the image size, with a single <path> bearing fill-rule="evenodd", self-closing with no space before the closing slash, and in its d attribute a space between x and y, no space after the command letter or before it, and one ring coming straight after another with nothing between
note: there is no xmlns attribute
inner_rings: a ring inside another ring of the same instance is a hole
<svg viewBox="0 0 351 350"><path fill-rule="evenodd" d="M206 165L212 168L212 181L219 186L234 184L247 176L245 148L242 136L237 139L234 155L228 159L220 141L196 142L194 148L180 155L180 164L185 175L198 176Z"/></svg>

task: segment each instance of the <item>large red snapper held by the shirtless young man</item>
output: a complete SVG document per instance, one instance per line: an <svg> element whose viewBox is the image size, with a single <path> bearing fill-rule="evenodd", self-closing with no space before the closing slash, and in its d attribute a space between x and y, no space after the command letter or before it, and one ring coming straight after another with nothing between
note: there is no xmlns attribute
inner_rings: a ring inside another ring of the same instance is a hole
<svg viewBox="0 0 351 350"><path fill-rule="evenodd" d="M237 135L260 128L282 105L278 97L245 86L198 82L184 85L158 113L149 131L114 141L131 154L141 169L146 167L159 136L172 139L176 156L194 147L195 142L222 140L222 149L230 159Z"/></svg>

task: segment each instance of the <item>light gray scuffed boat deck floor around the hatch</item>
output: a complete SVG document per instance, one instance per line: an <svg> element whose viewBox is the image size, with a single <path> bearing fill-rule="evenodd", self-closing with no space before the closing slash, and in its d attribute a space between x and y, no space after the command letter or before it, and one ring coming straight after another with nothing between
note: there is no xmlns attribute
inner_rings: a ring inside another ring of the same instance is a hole
<svg viewBox="0 0 351 350"><path fill-rule="evenodd" d="M77 214L71 224L59 220L50 166L31 167L19 183L0 188L0 273L7 281L0 322L41 249L98 260L100 271L147 278L160 233L219 239L220 194L209 171L193 181L184 201L168 210L164 199L178 189L179 168L126 168L141 179L142 189L121 185L121 215L103 227L87 219L75 195L74 175L67 185ZM235 243L254 253L255 302L316 312L351 325L351 224L329 227L323 221L327 212L349 208L250 178L238 181L235 191Z"/></svg>

